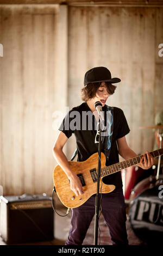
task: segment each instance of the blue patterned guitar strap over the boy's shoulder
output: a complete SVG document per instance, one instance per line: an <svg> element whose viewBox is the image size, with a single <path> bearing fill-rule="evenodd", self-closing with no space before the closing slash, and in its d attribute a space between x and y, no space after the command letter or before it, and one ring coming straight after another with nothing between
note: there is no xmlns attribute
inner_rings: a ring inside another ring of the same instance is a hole
<svg viewBox="0 0 163 256"><path fill-rule="evenodd" d="M111 151L111 141L114 126L114 107L106 106L106 135L105 135L105 157L109 160Z"/></svg>

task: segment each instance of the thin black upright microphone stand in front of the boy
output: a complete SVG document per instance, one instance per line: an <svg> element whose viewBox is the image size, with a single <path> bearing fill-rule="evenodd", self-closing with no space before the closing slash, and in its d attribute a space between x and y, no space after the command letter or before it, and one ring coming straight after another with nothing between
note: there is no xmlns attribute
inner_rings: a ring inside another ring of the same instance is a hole
<svg viewBox="0 0 163 256"><path fill-rule="evenodd" d="M95 199L95 230L94 230L94 245L97 245L98 241L98 221L99 221L99 203L100 203L100 193L99 193L99 181L101 177L101 125L99 118L99 143L98 143L98 173L97 173L97 193Z"/></svg>

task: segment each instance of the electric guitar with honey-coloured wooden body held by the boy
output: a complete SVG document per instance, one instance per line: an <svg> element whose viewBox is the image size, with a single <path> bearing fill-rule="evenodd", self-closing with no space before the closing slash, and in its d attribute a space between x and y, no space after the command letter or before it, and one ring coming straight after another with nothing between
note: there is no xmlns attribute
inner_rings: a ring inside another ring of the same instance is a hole
<svg viewBox="0 0 163 256"><path fill-rule="evenodd" d="M163 155L163 148L152 151L150 153L153 157ZM101 153L101 178L140 163L142 156L143 155L136 156L129 160L112 164L111 166L105 166L105 155L104 153ZM84 194L82 194L82 196L76 196L76 194L70 189L70 181L68 180L67 175L65 174L64 170L61 169L59 164L53 170L54 187L62 204L64 204L67 208L77 208L78 206L84 204L87 199L92 196L92 194L96 194L98 153L91 155L86 161L68 161L68 163L70 164L73 172L76 173L79 177L83 186ZM100 193L110 193L115 189L115 186L106 185L100 179L99 188Z"/></svg>

